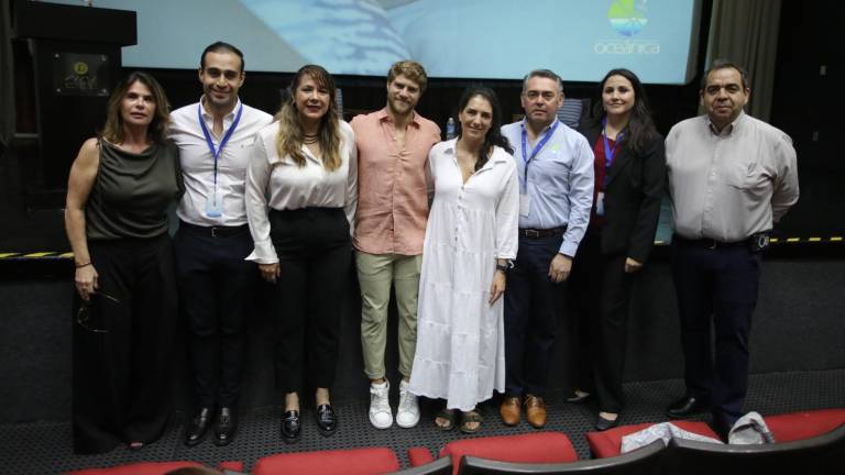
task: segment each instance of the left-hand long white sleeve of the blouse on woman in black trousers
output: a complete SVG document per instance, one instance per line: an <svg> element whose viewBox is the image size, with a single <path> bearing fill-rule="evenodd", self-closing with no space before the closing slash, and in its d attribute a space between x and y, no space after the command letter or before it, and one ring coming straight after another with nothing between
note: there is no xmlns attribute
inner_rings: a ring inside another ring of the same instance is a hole
<svg viewBox="0 0 845 475"><path fill-rule="evenodd" d="M268 184L271 163L266 145L259 134L252 147L250 166L246 168L246 219L250 223L250 233L255 243L252 253L246 261L259 264L275 264L278 262L273 241L270 239L270 218L267 211Z"/></svg>

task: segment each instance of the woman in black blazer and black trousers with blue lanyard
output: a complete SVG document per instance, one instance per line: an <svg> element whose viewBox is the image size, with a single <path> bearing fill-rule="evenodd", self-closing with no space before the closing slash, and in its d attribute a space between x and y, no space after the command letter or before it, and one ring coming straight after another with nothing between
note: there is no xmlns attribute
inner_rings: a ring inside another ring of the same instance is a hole
<svg viewBox="0 0 845 475"><path fill-rule="evenodd" d="M643 84L628 69L607 73L591 118L579 130L593 144L595 191L570 295L580 333L586 336L579 340L592 349L577 355L578 386L569 400L584 400L594 390L600 410L595 428L606 430L617 424L624 404L630 285L654 245L666 157Z"/></svg>

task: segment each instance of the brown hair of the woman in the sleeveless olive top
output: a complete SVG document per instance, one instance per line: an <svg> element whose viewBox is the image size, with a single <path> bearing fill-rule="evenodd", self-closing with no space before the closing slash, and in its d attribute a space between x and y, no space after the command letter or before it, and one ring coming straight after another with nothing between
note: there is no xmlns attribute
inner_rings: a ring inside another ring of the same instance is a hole
<svg viewBox="0 0 845 475"><path fill-rule="evenodd" d="M106 124L102 126L100 137L107 141L121 144L123 143L123 115L121 107L123 99L133 84L141 82L150 89L155 102L155 113L153 121L146 129L146 139L153 143L162 143L167 137L167 125L171 123L171 103L167 101L167 95L164 93L162 85L154 77L146 73L133 71L118 82L114 90L111 91L109 103L106 108Z"/></svg>

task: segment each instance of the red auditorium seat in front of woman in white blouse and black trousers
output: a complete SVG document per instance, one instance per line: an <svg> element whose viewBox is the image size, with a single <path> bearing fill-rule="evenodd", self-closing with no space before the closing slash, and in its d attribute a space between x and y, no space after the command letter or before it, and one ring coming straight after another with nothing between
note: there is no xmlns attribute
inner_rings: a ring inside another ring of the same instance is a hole
<svg viewBox="0 0 845 475"><path fill-rule="evenodd" d="M387 448L292 452L259 459L252 475L375 475L399 470L399 460Z"/></svg>

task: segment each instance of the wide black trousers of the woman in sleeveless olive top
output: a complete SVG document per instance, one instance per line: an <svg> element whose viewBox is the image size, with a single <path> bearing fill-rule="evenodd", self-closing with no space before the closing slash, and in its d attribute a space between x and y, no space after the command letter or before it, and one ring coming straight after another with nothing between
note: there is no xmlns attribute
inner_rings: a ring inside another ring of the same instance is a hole
<svg viewBox="0 0 845 475"><path fill-rule="evenodd" d="M151 443L171 413L177 316L171 238L89 242L99 290L73 322L74 452Z"/></svg>

